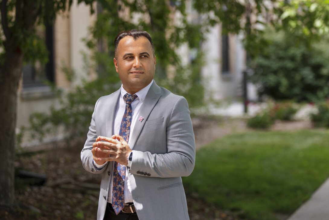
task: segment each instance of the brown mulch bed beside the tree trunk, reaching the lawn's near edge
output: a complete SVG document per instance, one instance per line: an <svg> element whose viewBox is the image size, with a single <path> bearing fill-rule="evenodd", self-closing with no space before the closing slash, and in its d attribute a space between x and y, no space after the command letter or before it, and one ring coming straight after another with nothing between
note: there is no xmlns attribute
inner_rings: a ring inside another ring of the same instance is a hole
<svg viewBox="0 0 329 220"><path fill-rule="evenodd" d="M80 161L81 148L58 148L21 156L16 168L44 174L44 185L26 186L18 182L15 191L17 206L2 207L4 220L72 220L96 219L100 175L86 172ZM196 195L187 194L191 220L239 219L228 211L207 205Z"/></svg>

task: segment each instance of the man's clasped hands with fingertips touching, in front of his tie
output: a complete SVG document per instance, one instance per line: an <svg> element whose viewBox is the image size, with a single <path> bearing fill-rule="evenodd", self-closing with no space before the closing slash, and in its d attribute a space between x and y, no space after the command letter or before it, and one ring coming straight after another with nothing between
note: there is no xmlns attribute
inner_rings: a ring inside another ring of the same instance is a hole
<svg viewBox="0 0 329 220"><path fill-rule="evenodd" d="M106 161L128 165L127 158L131 151L127 141L120 135L112 135L111 138L98 136L91 149L93 159L98 165L103 165Z"/></svg>

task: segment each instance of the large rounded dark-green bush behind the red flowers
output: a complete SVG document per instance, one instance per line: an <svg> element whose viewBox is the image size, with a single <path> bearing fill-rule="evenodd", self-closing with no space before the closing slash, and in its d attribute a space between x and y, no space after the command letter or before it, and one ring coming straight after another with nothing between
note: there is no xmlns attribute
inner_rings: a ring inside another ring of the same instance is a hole
<svg viewBox="0 0 329 220"><path fill-rule="evenodd" d="M317 102L329 97L329 40L311 46L294 42L287 34L268 31L268 42L254 57L250 80L259 94L275 100Z"/></svg>

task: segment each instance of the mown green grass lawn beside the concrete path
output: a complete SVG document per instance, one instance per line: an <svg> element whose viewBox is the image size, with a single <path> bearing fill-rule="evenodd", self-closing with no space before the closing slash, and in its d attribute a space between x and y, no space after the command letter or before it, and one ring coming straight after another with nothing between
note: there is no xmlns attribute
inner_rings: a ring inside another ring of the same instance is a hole
<svg viewBox="0 0 329 220"><path fill-rule="evenodd" d="M266 131L218 139L196 152L187 191L255 220L292 214L329 177L329 131Z"/></svg>

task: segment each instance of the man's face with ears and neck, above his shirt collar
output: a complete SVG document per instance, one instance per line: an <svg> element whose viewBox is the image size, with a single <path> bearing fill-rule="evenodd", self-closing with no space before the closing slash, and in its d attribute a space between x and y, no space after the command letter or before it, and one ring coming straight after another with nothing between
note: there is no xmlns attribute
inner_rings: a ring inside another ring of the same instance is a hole
<svg viewBox="0 0 329 220"><path fill-rule="evenodd" d="M154 78L155 57L151 43L145 37L136 41L131 36L122 38L117 47L114 65L123 88L129 94L135 94Z"/></svg>

